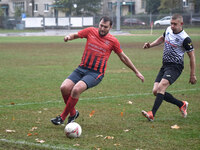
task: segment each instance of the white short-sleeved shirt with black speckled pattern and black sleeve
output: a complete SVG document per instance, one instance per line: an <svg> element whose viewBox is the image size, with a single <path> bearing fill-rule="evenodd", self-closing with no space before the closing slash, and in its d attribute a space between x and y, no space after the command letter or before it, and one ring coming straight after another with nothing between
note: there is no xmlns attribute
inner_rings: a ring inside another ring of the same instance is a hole
<svg viewBox="0 0 200 150"><path fill-rule="evenodd" d="M184 53L194 50L188 34L184 30L175 34L171 27L168 27L163 36L165 38L163 63L173 63L184 66Z"/></svg>

